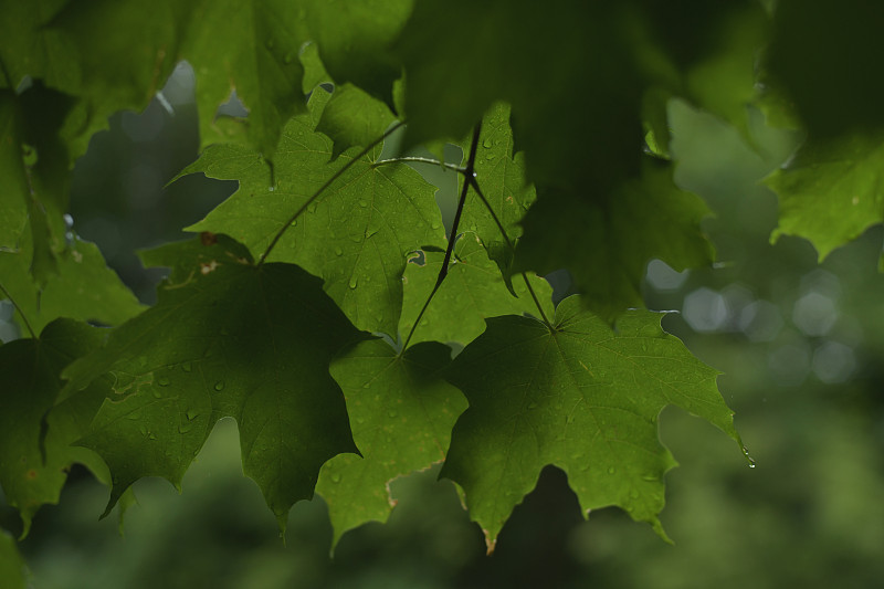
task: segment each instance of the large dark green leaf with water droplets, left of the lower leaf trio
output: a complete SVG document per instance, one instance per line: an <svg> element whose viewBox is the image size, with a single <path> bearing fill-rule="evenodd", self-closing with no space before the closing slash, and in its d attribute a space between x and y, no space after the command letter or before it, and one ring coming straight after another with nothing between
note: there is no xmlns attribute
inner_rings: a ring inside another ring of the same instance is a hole
<svg viewBox="0 0 884 589"><path fill-rule="evenodd" d="M214 423L230 416L243 472L284 527L291 506L313 495L322 464L356 452L328 362L365 335L302 269L254 266L223 235L201 243L148 255L173 267L157 305L71 365L65 395L102 375L113 379L80 442L110 467L108 508L143 476L180 485Z"/></svg>

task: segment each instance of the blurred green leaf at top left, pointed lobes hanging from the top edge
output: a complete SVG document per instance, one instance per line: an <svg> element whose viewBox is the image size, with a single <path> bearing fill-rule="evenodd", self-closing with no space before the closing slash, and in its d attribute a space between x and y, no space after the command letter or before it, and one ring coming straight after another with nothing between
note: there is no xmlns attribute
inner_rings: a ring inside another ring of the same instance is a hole
<svg viewBox="0 0 884 589"><path fill-rule="evenodd" d="M214 118L234 88L250 108L250 140L267 157L283 124L304 107L297 56L308 36L295 2L71 2L51 27L78 52L81 94L107 114L141 109L180 60L199 80L203 141L228 138Z"/></svg>

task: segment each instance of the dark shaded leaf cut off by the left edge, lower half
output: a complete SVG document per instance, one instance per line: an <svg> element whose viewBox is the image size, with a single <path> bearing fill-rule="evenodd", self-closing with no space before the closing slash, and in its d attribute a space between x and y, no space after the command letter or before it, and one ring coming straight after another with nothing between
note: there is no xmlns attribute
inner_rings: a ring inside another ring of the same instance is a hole
<svg viewBox="0 0 884 589"><path fill-rule="evenodd" d="M0 346L0 485L9 504L19 509L22 536L41 505L59 502L71 464L85 464L99 481L110 481L107 466L94 452L71 445L104 400L107 382L98 379L55 404L62 369L97 348L103 332L59 319L43 329L40 339Z"/></svg>

